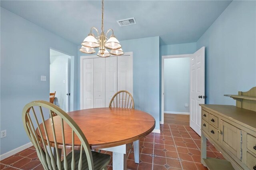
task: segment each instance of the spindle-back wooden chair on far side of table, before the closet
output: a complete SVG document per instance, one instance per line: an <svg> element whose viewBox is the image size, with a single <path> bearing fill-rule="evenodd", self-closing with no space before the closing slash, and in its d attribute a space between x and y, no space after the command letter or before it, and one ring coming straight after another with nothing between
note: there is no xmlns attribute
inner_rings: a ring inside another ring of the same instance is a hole
<svg viewBox="0 0 256 170"><path fill-rule="evenodd" d="M134 109L134 100L132 94L126 90L118 91L112 97L108 107L122 107Z"/></svg>

